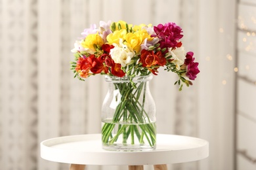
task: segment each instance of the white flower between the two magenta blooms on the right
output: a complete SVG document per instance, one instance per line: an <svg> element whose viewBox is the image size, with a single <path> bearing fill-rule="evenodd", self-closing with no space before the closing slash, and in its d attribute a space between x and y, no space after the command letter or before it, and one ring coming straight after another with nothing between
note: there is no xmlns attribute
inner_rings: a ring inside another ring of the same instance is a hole
<svg viewBox="0 0 256 170"><path fill-rule="evenodd" d="M180 48L175 48L175 50L169 50L169 55L171 55L171 59L173 59L173 63L175 63L176 68L178 70L181 69L181 65L184 64L186 59L186 52L184 47L181 46Z"/></svg>

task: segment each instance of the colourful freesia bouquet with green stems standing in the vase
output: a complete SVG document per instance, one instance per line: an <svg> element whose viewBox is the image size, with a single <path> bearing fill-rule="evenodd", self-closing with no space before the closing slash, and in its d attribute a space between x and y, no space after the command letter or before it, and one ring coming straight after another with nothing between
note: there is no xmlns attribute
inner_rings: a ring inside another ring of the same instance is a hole
<svg viewBox="0 0 256 170"><path fill-rule="evenodd" d="M151 24L131 25L124 21L100 22L99 27L91 25L81 35L81 39L75 42L75 48L72 50L75 61L71 62L71 69L74 71L75 77L84 80L91 75L101 74L129 77L131 80L128 85L116 86L121 96L126 96L126 98L122 97L121 103L117 106L114 114L116 117L112 120L114 123L121 120L123 112L129 112L131 116L127 117L129 123L146 124L150 122L150 120L145 121L144 119L147 113L142 111L144 110L142 108L143 100L140 102L135 99L135 96L143 96L142 90L138 89L136 83L133 82L135 76L148 76L151 73L158 75L158 69L164 67L165 71L176 73L178 80L175 84L179 84L179 90L182 90L183 84L192 85L191 80L195 80L200 73L198 63L194 61L193 52L186 52L182 46L181 27L173 22L158 24L154 27ZM129 93L127 93L128 91ZM127 103L127 99L129 99L130 106L137 105L139 107L124 106L123 103ZM114 138L110 132L112 129L110 126L102 127L104 128L102 132L106 133L104 134L106 143L113 141ZM148 134L147 139L154 144L155 131L152 131L151 125L140 126L140 128L143 135ZM133 131L135 130L136 128L133 128ZM118 131L117 134L126 132ZM132 134L131 129L129 134ZM125 134L125 136L129 136L129 134Z"/></svg>

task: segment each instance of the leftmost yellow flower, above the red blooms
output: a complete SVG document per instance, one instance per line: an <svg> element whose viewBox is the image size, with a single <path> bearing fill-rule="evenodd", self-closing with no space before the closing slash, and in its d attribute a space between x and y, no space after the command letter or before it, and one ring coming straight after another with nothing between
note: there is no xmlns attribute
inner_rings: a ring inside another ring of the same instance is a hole
<svg viewBox="0 0 256 170"><path fill-rule="evenodd" d="M89 48L89 51L91 52L96 51L95 45L102 46L102 44L104 44L104 41L102 37L98 35L98 33L87 35L87 37L85 38L85 41L81 42L81 45L83 46L83 48L85 49Z"/></svg>

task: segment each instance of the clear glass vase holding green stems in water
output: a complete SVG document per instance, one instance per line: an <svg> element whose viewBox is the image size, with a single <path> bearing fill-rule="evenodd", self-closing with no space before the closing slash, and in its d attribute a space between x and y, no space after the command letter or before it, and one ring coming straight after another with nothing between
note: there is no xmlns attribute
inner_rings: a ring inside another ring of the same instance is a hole
<svg viewBox="0 0 256 170"><path fill-rule="evenodd" d="M139 151L156 148L156 105L150 93L152 75L106 76L102 104L102 148Z"/></svg>

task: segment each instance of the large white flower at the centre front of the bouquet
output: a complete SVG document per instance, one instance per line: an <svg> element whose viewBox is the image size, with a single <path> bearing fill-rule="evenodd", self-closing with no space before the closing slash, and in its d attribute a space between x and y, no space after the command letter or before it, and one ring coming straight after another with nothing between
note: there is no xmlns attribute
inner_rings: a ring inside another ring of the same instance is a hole
<svg viewBox="0 0 256 170"><path fill-rule="evenodd" d="M120 40L119 45L113 44L115 47L110 50L110 56L115 61L115 63L120 63L121 67L125 67L131 63L131 59L135 55L135 52L129 50L122 40Z"/></svg>

